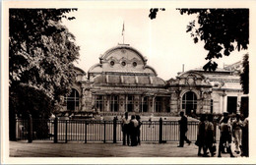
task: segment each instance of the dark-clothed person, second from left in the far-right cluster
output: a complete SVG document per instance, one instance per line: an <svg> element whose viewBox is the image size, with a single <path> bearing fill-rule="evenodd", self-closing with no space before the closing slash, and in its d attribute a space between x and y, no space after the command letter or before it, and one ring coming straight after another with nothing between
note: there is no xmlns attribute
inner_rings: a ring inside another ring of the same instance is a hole
<svg viewBox="0 0 256 165"><path fill-rule="evenodd" d="M215 139L215 126L213 123L213 115L209 114L206 121L205 129L205 150L204 155L207 156L207 150L210 150L211 156L213 157L216 153L216 146L214 145Z"/></svg>

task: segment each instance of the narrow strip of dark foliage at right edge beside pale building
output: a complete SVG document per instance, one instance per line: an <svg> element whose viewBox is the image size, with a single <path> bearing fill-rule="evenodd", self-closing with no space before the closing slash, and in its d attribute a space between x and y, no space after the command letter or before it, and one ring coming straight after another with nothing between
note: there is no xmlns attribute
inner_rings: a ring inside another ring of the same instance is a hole
<svg viewBox="0 0 256 165"><path fill-rule="evenodd" d="M242 85L243 92L245 94L249 93L249 60L248 59L249 59L249 55L245 54L242 62L243 71L240 74L240 83Z"/></svg>

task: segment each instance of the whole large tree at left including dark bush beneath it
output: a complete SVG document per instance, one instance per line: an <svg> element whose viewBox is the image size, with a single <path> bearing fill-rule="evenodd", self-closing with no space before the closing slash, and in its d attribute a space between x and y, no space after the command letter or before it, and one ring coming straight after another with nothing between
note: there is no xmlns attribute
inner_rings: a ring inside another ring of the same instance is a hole
<svg viewBox="0 0 256 165"><path fill-rule="evenodd" d="M9 120L15 114L47 118L61 95L71 91L79 57L75 36L61 20L76 9L9 10Z"/></svg>

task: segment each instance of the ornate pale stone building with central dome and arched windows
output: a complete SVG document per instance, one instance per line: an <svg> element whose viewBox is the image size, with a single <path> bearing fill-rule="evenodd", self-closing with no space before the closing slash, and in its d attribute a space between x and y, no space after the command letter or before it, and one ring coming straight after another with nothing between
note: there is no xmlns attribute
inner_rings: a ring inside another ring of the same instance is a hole
<svg viewBox="0 0 256 165"><path fill-rule="evenodd" d="M241 62L205 72L178 73L163 81L147 58L128 44L118 44L99 57L88 73L76 68L72 93L63 96L62 115L97 112L120 115L191 113L248 113L248 95L239 83Z"/></svg>

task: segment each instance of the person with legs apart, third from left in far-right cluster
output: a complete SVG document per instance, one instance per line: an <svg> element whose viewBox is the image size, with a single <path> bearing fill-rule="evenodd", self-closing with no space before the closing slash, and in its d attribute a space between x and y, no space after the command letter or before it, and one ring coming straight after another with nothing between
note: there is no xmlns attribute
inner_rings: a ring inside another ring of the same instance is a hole
<svg viewBox="0 0 256 165"><path fill-rule="evenodd" d="M228 123L227 115L224 115L224 119L222 120L220 129L221 129L221 138L220 138L220 143L219 143L218 157L222 157L222 151L224 150L224 144L226 146L227 152L230 154L230 157L234 157L232 154L232 151L231 151L231 126Z"/></svg>

